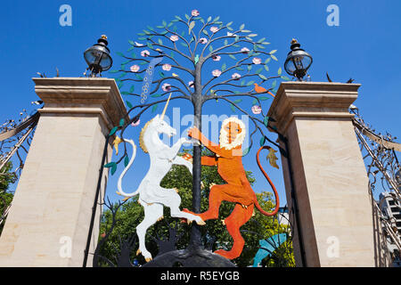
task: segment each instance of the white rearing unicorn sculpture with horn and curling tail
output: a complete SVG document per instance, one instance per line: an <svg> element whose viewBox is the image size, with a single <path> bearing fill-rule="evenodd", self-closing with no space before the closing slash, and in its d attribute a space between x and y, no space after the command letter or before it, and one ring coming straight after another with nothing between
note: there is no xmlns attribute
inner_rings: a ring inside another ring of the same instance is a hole
<svg viewBox="0 0 401 285"><path fill-rule="evenodd" d="M170 94L171 96L171 94ZM170 97L168 97L169 101ZM163 218L163 205L170 208L170 214L173 217L184 218L188 223L195 221L196 224L204 225L205 222L199 216L194 216L180 210L181 197L176 189L166 189L160 186L160 181L168 173L173 164L183 165L188 168L192 174L192 163L182 157L177 156L181 145L186 143L194 143L184 137L180 138L172 147L160 140L160 134L168 134L168 136L176 134L176 129L163 120L166 113L168 102L164 107L161 116L157 115L143 126L139 137L139 144L144 152L149 152L151 157L151 166L148 173L144 176L142 182L136 191L127 193L122 190L121 182L129 167L134 162L136 155L136 145L132 140L124 139L133 146L133 154L129 160L127 167L119 176L118 189L119 195L129 199L139 194L138 202L144 208L144 218L141 224L136 227L136 234L139 239L139 248L136 255L142 253L146 262L151 260L151 253L145 247L145 234L148 228ZM121 141L122 142L122 141Z"/></svg>

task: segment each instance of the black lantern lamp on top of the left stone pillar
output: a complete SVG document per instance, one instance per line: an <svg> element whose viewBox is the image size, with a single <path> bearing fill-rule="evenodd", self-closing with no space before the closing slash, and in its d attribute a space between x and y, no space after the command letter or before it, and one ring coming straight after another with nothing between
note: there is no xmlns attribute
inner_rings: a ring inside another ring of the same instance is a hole
<svg viewBox="0 0 401 285"><path fill-rule="evenodd" d="M107 37L102 35L102 37L97 40L97 44L86 49L84 58L88 65L86 71L88 69L91 71L90 77L96 77L98 74L101 74L102 71L110 69L113 64L107 45ZM84 75L86 75L86 71Z"/></svg>

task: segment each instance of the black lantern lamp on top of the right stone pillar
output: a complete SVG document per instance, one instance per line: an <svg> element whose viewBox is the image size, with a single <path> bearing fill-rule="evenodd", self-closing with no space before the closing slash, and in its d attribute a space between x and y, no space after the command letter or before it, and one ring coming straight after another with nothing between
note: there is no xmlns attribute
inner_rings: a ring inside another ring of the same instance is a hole
<svg viewBox="0 0 401 285"><path fill-rule="evenodd" d="M300 48L298 41L293 38L291 41L291 52L288 53L284 63L284 69L292 77L297 77L299 81L307 75L307 69L312 64L312 56Z"/></svg>

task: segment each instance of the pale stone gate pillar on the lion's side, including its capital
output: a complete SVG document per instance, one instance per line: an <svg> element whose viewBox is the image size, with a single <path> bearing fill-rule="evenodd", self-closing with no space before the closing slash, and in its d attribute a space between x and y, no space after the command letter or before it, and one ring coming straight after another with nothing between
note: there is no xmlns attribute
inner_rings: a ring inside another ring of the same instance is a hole
<svg viewBox="0 0 401 285"><path fill-rule="evenodd" d="M288 139L291 173L284 157L282 171L290 208L294 185L306 266L374 266L368 178L348 112L359 86L285 82L267 114Z"/></svg>

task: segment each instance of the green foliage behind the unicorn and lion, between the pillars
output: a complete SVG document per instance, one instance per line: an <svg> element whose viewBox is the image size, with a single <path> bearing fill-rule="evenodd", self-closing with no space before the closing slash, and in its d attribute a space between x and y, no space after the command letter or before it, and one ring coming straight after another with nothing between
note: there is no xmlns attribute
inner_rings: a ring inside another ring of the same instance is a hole
<svg viewBox="0 0 401 285"><path fill-rule="evenodd" d="M211 155L208 150L204 150L202 155ZM255 178L250 171L246 172L250 184L255 183ZM218 175L217 167L202 167L201 169L201 180L204 184L204 188L201 191L201 212L206 211L209 208L209 191L210 184L223 184L225 181ZM177 188L181 196L181 208L192 209L192 175L183 166L173 166L168 174L162 179L160 185L165 188ZM274 208L274 201L272 199L273 194L270 192L263 191L257 193L258 202L262 208L267 211L271 211ZM116 218L119 222L116 224L114 230L110 233L110 237L102 248L101 255L107 256L110 260L115 260L113 256L119 251L119 242L121 240L128 239L130 236L135 235L135 227L143 220L143 207L140 206L136 197L128 200L119 211L117 212ZM206 225L201 227L204 244L207 244L209 239L212 237L216 238L216 243L213 246L213 251L218 248L229 249L233 245L233 240L230 234L227 232L225 225L222 224L224 220L233 211L235 204L230 202L223 202L220 211L219 218L217 220L206 221ZM151 251L152 256L157 256L158 246L152 237L157 236L168 238L168 224L171 227L177 226L177 235L182 235L181 239L177 241L176 248L183 249L188 246L188 240L190 239L191 226L183 224L176 218L172 218L169 215L169 208L164 208L164 219L151 226L146 234L146 247ZM112 216L110 210L104 211L101 222L101 234L108 232L110 229ZM240 257L233 260L238 266L249 266L253 263L253 257L258 251L258 240L267 238L278 231L285 232L286 229L281 225L277 224L277 220L274 217L263 216L255 211L253 216L247 224L241 227L241 234L245 239L245 247ZM136 236L136 235L135 235ZM117 248L117 250L116 250ZM135 258L135 251L137 244L131 252L131 258ZM143 256L136 256L141 264L144 264ZM288 257L285 257L288 258ZM282 260L280 260L282 262ZM277 261L270 262L272 265L276 265ZM269 265L270 265L269 264Z"/></svg>

